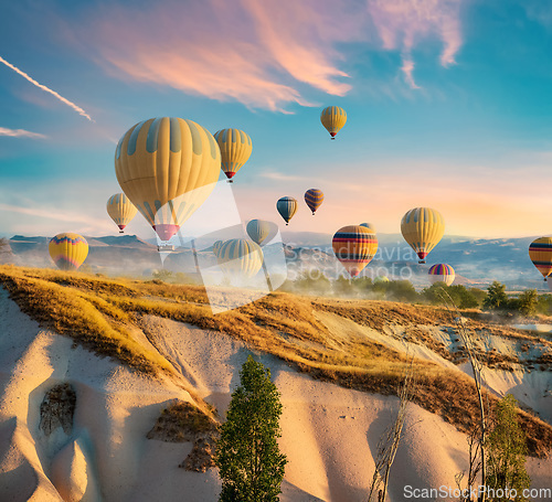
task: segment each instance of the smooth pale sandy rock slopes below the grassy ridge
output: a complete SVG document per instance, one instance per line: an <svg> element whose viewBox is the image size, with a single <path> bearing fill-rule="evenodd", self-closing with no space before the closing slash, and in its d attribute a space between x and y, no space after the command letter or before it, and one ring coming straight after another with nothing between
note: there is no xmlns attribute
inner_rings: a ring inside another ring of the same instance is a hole
<svg viewBox="0 0 552 502"><path fill-rule="evenodd" d="M326 321L333 322L332 330L355 329L349 321ZM144 324L150 343L182 378L223 412L248 349L222 333L166 319L145 317ZM191 442L146 438L169 402L191 400L176 382L146 377L41 330L3 290L0 325L0 500L216 500L215 469L198 473L178 467ZM378 440L397 399L314 381L274 356L257 356L282 392L280 446L289 460L282 501L364 500ZM60 383L76 393L73 427L46 435L40 407ZM454 487L454 476L467 467L463 434L418 406L408 412L392 471L393 502L405 500L407 484ZM552 460L531 459L529 471L535 485L550 485Z"/></svg>

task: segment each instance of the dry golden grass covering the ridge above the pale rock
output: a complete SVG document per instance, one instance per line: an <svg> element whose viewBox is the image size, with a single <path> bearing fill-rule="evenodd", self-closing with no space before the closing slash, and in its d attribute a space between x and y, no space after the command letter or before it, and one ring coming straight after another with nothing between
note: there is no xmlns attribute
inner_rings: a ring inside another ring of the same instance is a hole
<svg viewBox="0 0 552 502"><path fill-rule="evenodd" d="M12 266L0 266L0 281L22 310L44 325L147 372L172 371L172 367L161 355L134 342L125 327L140 327L141 316L152 314L227 333L316 378L364 392L396 395L406 356L368 338L332 334L318 320L317 312L330 312L380 332L385 327L404 327L417 343L426 343L439 353L443 348L424 338L418 327L454 327L444 308L375 300L322 300L275 292L240 309L213 316L206 293L199 286L113 280ZM477 320L477 312L465 313L471 318L475 330L519 335ZM425 361L416 360L414 369L415 402L468 432L478 417L474 382ZM496 402L490 395L488 399ZM528 431L531 453L543 456L552 445L552 427L522 412L519 417Z"/></svg>

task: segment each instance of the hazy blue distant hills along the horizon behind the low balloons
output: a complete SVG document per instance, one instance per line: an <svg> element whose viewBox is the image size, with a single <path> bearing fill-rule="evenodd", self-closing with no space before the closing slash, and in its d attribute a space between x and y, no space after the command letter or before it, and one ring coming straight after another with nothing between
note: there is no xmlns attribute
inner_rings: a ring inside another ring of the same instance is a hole
<svg viewBox="0 0 552 502"><path fill-rule="evenodd" d="M85 236L86 237L86 236ZM305 273L323 273L329 278L343 274L331 249L331 235L322 233L284 232L285 257L290 278ZM548 291L545 282L529 259L529 244L535 237L474 239L446 236L432 250L427 265L417 264L417 257L400 234L379 234L379 250L363 275L385 275L391 279L410 279L416 287L427 286L431 265L446 263L454 267L457 284L486 287L493 280L510 289L537 288ZM86 237L89 255L86 266L93 271L142 275L162 267L157 243L136 235ZM49 237L15 235L9 239L10 259L21 265L49 267ZM198 241L201 267L216 264L211 245ZM6 253L6 252L4 252ZM275 256L276 247L265 248ZM7 256L7 255L6 255ZM195 261L190 248L177 248L163 256L164 266L172 271L193 274Z"/></svg>

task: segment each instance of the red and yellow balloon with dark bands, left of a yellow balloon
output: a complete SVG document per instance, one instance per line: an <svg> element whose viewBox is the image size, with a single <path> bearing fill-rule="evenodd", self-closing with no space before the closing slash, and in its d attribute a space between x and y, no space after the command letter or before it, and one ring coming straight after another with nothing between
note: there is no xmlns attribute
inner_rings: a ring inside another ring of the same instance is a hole
<svg viewBox="0 0 552 502"><path fill-rule="evenodd" d="M360 225L339 228L331 242L336 257L351 277L357 277L378 252L378 237Z"/></svg>

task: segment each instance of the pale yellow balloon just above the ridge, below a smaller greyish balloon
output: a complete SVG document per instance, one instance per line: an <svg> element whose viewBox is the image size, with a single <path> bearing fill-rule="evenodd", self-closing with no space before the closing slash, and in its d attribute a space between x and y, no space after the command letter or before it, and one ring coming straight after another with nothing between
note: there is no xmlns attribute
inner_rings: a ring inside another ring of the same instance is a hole
<svg viewBox="0 0 552 502"><path fill-rule="evenodd" d="M223 273L233 282L240 284L261 270L263 250L248 238L232 238L223 243L216 259Z"/></svg>

